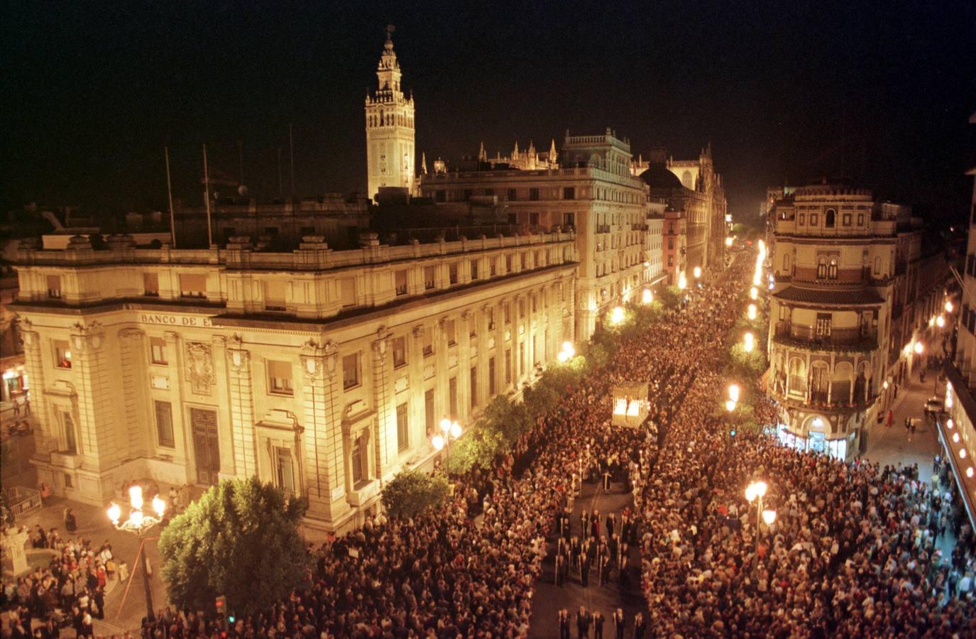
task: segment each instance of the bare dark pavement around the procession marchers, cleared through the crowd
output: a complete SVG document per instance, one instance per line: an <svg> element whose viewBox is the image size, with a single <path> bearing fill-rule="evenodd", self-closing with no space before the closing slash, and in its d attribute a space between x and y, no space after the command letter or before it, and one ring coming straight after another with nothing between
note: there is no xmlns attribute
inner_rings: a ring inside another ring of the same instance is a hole
<svg viewBox="0 0 976 639"><path fill-rule="evenodd" d="M610 491L604 492L601 482L584 483L582 494L573 502L573 514L570 518L571 536L580 537L580 515L583 510L600 511L601 530L606 522L606 516L617 513L617 522L621 521L621 512L625 507L633 507L633 496L627 492L624 483L612 483ZM535 596L532 598L532 623L529 626L529 637L559 636L557 616L559 610L565 608L572 619L573 635L576 635L575 614L580 606L585 606L591 613L599 611L605 619L603 636L613 636L613 614L618 608L624 610L625 619L632 629L633 616L646 610L644 597L640 591L640 552L639 548L630 548L630 588L622 590L617 571L610 574L610 582L600 586L596 578L595 569L590 573L590 585L580 584L578 570L569 571L569 579L564 585L554 584L555 535L546 544L547 556L543 562L543 573L539 578Z"/></svg>

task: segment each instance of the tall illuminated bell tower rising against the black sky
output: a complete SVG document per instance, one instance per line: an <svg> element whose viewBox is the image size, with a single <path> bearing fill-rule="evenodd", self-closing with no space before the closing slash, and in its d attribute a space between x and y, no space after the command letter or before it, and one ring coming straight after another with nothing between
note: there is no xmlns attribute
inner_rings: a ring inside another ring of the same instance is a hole
<svg viewBox="0 0 976 639"><path fill-rule="evenodd" d="M366 185L369 199L381 186L415 188L414 98L400 86L400 62L393 51L393 25L377 64L377 87L366 96Z"/></svg>

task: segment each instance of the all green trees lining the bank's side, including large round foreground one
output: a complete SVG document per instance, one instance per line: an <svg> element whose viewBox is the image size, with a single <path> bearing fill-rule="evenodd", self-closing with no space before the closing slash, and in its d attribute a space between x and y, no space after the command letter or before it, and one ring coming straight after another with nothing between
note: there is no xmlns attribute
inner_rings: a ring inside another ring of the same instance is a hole
<svg viewBox="0 0 976 639"><path fill-rule="evenodd" d="M558 410L573 386L598 373L621 342L648 330L680 302L680 292L671 288L650 304L629 304L622 322L598 330L582 355L551 366L535 385L523 389L521 402L496 397L452 447L447 472L490 468L537 419ZM439 506L449 493L443 473L410 470L386 482L382 501L390 516L411 517ZM290 499L256 477L212 487L160 535L170 601L182 609L213 611L217 597L224 596L228 610L244 616L285 598L308 570L299 534L306 507L304 499Z"/></svg>

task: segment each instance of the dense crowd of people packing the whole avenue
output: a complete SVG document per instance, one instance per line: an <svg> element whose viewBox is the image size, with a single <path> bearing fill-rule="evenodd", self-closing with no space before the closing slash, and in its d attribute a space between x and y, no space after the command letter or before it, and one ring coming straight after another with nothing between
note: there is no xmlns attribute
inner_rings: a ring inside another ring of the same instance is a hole
<svg viewBox="0 0 976 639"><path fill-rule="evenodd" d="M976 633L972 531L942 468L941 481L923 484L912 468L845 463L758 432L730 434L716 410L728 381L719 374L743 312L748 261L690 289L686 307L653 330L623 340L507 456L456 478L446 507L408 520L377 515L310 548L307 587L261 615L224 627L165 609L143 634L453 639L525 636L530 623L560 637L571 627L589 637L606 623L608 636L638 639ZM611 389L632 381L649 384L650 417L639 428L612 427ZM772 410L757 405L769 419ZM626 482L633 510L571 518L581 470ZM777 512L758 544L745 496L752 479L767 482L765 502ZM945 535L958 539L949 556L937 547ZM639 566L628 564L630 548L639 549ZM547 553L555 579L630 581L647 610L634 619L586 610L533 617ZM45 579L61 578L33 583ZM30 588L23 598L15 590L8 601L20 614L41 616Z"/></svg>

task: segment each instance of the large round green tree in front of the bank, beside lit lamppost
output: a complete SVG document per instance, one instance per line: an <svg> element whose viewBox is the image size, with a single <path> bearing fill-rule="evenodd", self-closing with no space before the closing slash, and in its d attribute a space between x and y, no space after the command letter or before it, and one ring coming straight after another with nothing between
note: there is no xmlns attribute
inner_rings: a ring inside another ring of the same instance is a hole
<svg viewBox="0 0 976 639"><path fill-rule="evenodd" d="M249 615L283 599L305 576L305 508L255 477L212 487L159 536L170 600L210 610L224 595L230 611Z"/></svg>

